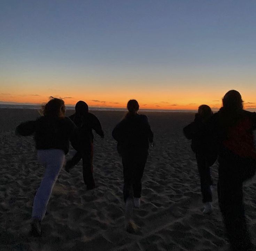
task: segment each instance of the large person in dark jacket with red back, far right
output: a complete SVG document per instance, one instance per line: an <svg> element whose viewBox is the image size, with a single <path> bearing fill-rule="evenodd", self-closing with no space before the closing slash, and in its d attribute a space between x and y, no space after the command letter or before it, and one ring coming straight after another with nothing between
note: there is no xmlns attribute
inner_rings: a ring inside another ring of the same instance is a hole
<svg viewBox="0 0 256 251"><path fill-rule="evenodd" d="M218 146L219 207L235 251L250 250L252 246L245 219L243 182L255 174L255 129L256 113L243 110L242 97L234 90L225 94L223 107L208 125Z"/></svg>

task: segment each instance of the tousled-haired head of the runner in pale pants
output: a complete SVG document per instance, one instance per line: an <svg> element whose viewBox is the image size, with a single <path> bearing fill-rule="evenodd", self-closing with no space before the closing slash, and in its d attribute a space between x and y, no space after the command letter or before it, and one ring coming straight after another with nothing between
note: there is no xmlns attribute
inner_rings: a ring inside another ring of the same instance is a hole
<svg viewBox="0 0 256 251"><path fill-rule="evenodd" d="M50 97L50 100L42 106L42 113L49 117L64 117L66 112L65 103L62 99Z"/></svg>

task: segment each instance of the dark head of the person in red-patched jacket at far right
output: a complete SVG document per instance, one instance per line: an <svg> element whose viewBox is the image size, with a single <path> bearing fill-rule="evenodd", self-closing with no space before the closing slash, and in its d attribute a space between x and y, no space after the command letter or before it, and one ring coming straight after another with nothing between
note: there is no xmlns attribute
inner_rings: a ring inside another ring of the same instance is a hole
<svg viewBox="0 0 256 251"><path fill-rule="evenodd" d="M235 111L235 110L243 109L242 96L238 91L235 91L235 90L228 91L224 95L222 99L222 103L223 103L223 109L225 110Z"/></svg>

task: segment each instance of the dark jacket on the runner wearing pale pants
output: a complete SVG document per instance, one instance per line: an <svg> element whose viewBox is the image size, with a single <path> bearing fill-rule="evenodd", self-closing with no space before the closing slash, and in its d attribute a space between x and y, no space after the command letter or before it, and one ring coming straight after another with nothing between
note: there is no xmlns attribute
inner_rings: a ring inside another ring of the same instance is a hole
<svg viewBox="0 0 256 251"><path fill-rule="evenodd" d="M36 148L61 149L65 154L69 151L69 140L76 141L76 126L67 117L52 118L42 116L35 121L21 123L16 128L16 134L29 136L34 133Z"/></svg>

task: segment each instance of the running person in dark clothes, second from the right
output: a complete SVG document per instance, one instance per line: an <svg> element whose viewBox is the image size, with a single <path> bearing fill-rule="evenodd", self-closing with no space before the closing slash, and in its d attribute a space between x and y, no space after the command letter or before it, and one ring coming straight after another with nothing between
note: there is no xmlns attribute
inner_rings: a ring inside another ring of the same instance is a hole
<svg viewBox="0 0 256 251"><path fill-rule="evenodd" d="M204 134L205 125L212 115L212 110L208 105L200 105L195 115L195 120L183 129L186 138L192 140L191 148L196 154L202 201L204 203L203 213L212 212L212 178L210 167L217 159L216 150L210 138Z"/></svg>

